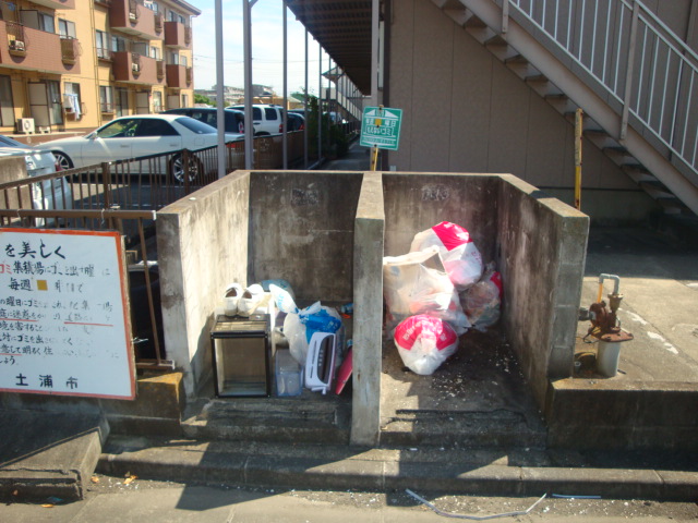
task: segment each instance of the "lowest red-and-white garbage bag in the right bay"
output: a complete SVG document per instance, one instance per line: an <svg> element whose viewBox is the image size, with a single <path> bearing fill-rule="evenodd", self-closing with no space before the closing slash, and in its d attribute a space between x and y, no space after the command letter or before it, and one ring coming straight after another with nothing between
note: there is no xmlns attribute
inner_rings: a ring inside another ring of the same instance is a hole
<svg viewBox="0 0 698 523"><path fill-rule="evenodd" d="M432 316L411 316L393 337L402 363L413 373L430 375L458 349L458 335L446 321Z"/></svg>

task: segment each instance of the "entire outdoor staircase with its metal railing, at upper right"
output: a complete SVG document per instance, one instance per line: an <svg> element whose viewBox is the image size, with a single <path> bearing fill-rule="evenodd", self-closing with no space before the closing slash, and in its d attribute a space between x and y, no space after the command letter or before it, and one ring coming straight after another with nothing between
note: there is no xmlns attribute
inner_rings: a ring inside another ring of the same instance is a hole
<svg viewBox="0 0 698 523"><path fill-rule="evenodd" d="M432 0L666 214L698 214L698 54L640 0Z"/></svg>

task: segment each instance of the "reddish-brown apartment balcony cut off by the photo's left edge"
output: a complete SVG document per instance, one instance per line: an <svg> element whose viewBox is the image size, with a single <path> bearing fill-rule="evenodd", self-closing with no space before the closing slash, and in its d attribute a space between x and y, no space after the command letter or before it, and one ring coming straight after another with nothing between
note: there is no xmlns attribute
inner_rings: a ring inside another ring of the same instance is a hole
<svg viewBox="0 0 698 523"><path fill-rule="evenodd" d="M0 21L0 63L51 74L80 74L80 42L53 33Z"/></svg>

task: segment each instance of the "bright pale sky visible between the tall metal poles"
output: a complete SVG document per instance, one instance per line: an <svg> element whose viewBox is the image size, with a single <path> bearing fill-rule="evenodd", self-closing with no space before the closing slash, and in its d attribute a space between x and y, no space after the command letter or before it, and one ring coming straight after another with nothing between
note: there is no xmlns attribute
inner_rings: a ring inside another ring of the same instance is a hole
<svg viewBox="0 0 698 523"><path fill-rule="evenodd" d="M248 0L222 0L224 84L244 87L242 8ZM194 33L194 87L210 89L216 81L216 4L214 0L190 0L202 11L192 20ZM284 12L282 0L257 0L252 7L252 83L284 90ZM305 85L305 28L287 11L288 94ZM308 38L308 83L311 94L318 92L318 45ZM323 71L329 69L323 51ZM323 85L326 85L326 81Z"/></svg>

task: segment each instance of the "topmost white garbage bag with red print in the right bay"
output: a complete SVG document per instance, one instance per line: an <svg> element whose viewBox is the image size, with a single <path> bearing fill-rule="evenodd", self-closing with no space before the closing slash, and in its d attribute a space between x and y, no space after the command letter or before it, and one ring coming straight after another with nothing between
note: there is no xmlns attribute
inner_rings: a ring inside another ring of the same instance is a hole
<svg viewBox="0 0 698 523"><path fill-rule="evenodd" d="M438 257L456 289L462 291L482 276L482 256L466 229L449 221L419 232L410 252L438 247Z"/></svg>

